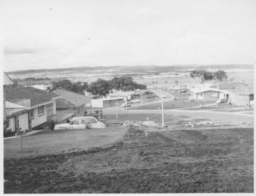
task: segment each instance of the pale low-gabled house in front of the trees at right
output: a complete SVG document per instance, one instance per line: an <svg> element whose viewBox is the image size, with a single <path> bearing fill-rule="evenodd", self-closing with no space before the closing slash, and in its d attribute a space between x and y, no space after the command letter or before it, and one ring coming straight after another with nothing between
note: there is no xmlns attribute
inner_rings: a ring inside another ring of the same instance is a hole
<svg viewBox="0 0 256 196"><path fill-rule="evenodd" d="M218 98L226 98L228 96L225 91L210 88L210 87L201 87L201 88L192 88L190 89L191 97L196 101L216 101Z"/></svg>

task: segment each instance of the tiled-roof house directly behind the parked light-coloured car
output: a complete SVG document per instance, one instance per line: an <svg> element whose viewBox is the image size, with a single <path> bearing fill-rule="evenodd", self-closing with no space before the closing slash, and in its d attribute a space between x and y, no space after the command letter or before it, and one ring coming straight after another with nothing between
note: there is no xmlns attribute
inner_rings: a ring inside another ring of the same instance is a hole
<svg viewBox="0 0 256 196"><path fill-rule="evenodd" d="M74 116L83 116L85 107L91 106L91 98L87 96L62 89L52 92L60 96L56 99L56 110L59 115L66 114L72 116L71 114L73 114Z"/></svg>

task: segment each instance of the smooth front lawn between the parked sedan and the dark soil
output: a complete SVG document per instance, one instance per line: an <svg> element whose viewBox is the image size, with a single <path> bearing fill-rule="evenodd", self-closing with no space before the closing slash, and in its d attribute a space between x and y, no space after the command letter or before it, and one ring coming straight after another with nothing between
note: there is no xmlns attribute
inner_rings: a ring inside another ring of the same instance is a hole
<svg viewBox="0 0 256 196"><path fill-rule="evenodd" d="M87 130L45 130L20 139L5 139L4 159L58 153L74 147L100 147L122 137L125 130L117 127Z"/></svg>

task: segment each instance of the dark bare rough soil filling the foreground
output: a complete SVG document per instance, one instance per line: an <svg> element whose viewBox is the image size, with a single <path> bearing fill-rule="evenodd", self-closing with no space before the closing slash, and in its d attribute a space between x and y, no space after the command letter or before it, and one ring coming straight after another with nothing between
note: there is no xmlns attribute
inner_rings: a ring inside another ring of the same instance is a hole
<svg viewBox="0 0 256 196"><path fill-rule="evenodd" d="M4 160L4 193L253 193L253 128L130 128L86 151Z"/></svg>

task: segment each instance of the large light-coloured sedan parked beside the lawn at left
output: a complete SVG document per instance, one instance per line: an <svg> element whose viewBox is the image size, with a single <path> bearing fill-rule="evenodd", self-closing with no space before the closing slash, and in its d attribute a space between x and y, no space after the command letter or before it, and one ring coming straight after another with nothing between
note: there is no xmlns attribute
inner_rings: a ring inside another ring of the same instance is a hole
<svg viewBox="0 0 256 196"><path fill-rule="evenodd" d="M54 130L104 129L107 126L93 116L74 117L69 123L55 125Z"/></svg>

